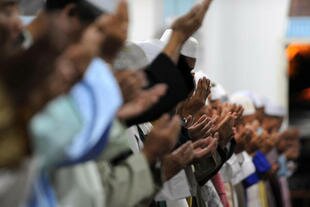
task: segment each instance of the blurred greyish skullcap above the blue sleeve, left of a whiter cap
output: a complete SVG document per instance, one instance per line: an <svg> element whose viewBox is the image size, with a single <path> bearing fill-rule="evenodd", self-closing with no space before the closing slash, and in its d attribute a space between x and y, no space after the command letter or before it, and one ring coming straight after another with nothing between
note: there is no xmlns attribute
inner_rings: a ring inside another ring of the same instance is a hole
<svg viewBox="0 0 310 207"><path fill-rule="evenodd" d="M113 68L123 69L141 69L148 65L148 59L144 51L135 43L127 43L120 51L114 61Z"/></svg>

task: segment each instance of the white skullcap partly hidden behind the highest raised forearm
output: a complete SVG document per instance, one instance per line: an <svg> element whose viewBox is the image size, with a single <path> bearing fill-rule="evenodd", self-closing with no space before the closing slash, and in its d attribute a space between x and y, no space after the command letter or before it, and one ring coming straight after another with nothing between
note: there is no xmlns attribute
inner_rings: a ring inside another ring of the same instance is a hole
<svg viewBox="0 0 310 207"><path fill-rule="evenodd" d="M172 29L167 29L160 40L167 43L171 37ZM183 45L181 54L186 57L198 58L199 53L199 42L194 37L190 37Z"/></svg>

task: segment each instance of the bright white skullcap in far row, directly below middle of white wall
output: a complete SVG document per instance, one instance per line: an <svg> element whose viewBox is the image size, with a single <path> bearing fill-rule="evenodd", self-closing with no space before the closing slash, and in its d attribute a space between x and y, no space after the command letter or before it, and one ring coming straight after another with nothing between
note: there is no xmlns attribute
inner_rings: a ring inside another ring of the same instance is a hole
<svg viewBox="0 0 310 207"><path fill-rule="evenodd" d="M233 94L230 96L229 100L231 103L238 104L243 107L244 116L253 115L256 112L253 102L247 96L240 95L240 94Z"/></svg>

